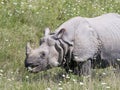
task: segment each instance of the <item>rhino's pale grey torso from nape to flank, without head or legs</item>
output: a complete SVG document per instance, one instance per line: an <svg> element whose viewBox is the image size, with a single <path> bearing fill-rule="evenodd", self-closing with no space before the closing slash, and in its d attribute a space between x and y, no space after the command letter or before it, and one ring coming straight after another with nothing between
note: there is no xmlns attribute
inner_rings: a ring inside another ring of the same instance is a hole
<svg viewBox="0 0 120 90"><path fill-rule="evenodd" d="M98 51L98 36L102 41L102 59L120 58L120 15L109 13L95 18L75 17L58 27L66 31L63 40L73 44L76 61L92 58Z"/></svg>

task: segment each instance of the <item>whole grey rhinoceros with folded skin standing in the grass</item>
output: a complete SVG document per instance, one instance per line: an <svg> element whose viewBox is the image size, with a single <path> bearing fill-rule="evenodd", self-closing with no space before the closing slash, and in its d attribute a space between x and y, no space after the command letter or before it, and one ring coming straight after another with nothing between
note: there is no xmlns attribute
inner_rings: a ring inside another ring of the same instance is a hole
<svg viewBox="0 0 120 90"><path fill-rule="evenodd" d="M62 66L66 71L88 75L95 62L116 66L119 58L120 15L108 13L94 18L74 17L52 33L46 28L38 48L27 44L25 67L39 72Z"/></svg>

